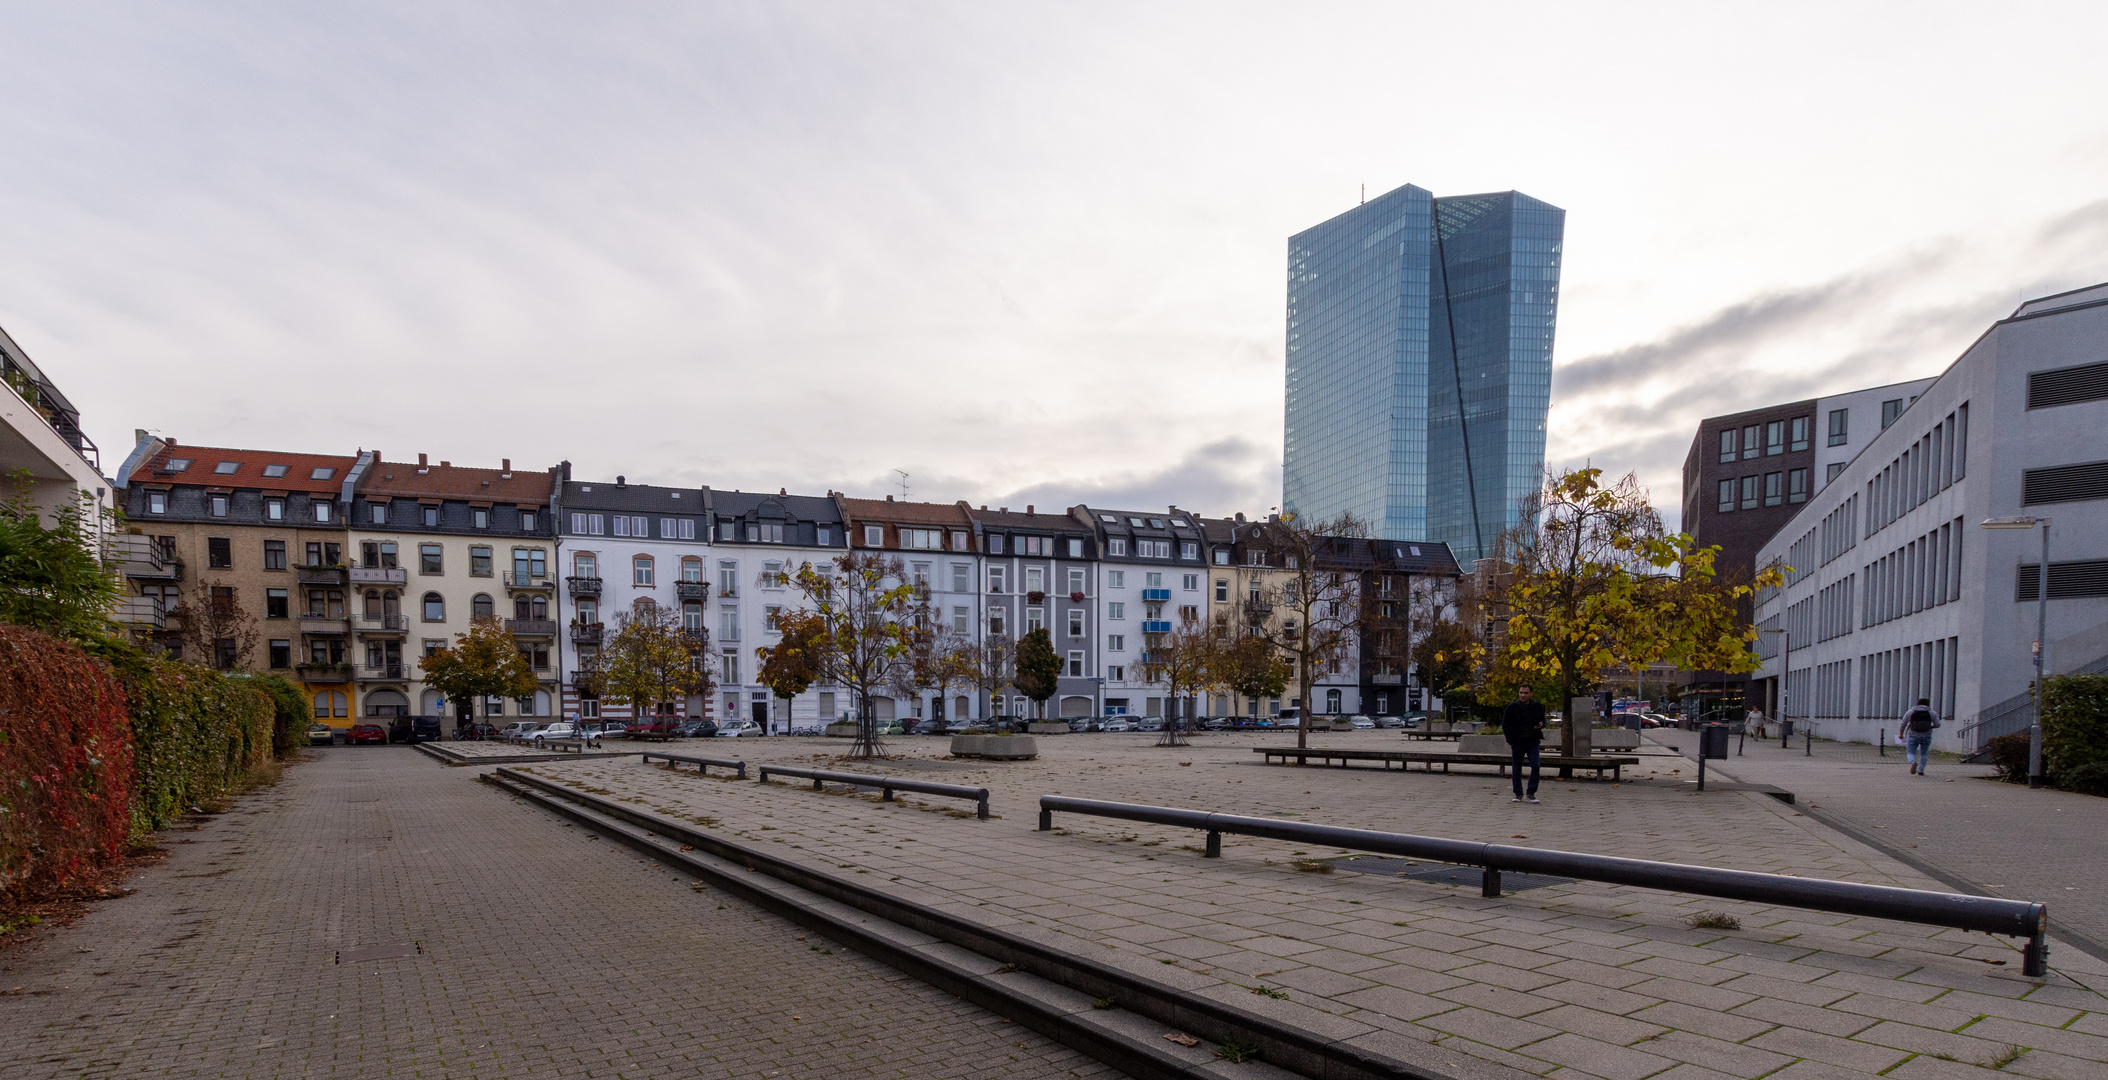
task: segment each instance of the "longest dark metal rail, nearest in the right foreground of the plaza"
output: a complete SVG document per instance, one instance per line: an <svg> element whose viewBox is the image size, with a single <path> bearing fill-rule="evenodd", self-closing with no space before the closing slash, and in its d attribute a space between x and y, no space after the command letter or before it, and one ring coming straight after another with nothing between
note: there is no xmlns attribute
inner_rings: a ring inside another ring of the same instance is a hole
<svg viewBox="0 0 2108 1080"><path fill-rule="evenodd" d="M1785 878L1781 873L1691 867L1682 863L1653 863L1646 859L1617 859L1608 854L1514 848L1507 844L1480 844L1476 840L1379 833L1374 829L1343 829L1336 825L1309 825L1303 821L1210 814L1206 810L1176 810L1170 806L1143 806L1132 802L1073 799L1067 795L1039 797L1039 831L1054 827L1056 812L1202 829L1208 833L1206 859L1218 859L1223 854L1223 833L1235 833L1286 840L1292 844L1402 854L1465 867L1482 867L1484 873L1480 892L1484 896L1501 894L1501 871L1547 873L1583 882L1661 888L1667 892L1693 892L1699 896L1720 896L1729 901L1773 903L1781 907L1807 907L1813 911L1838 911L1844 915L1870 915L1880 920L1920 922L1927 926L1952 926L1956 930L1982 930L1986 934L2024 937L2028 939L2028 947L2022 960L2022 972L2028 977L2043 977L2049 972L2049 907L2032 901L1965 896L1960 892L1927 892L1895 886L1863 886L1855 882L1828 882L1821 878Z"/></svg>

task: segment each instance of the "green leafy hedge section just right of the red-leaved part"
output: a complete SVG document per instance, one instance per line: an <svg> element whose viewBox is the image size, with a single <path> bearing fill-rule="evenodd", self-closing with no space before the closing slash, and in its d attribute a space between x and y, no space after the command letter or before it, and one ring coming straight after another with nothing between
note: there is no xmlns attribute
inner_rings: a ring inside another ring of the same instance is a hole
<svg viewBox="0 0 2108 1080"><path fill-rule="evenodd" d="M272 698L251 679L148 660L126 677L133 833L167 827L247 789L272 757Z"/></svg>

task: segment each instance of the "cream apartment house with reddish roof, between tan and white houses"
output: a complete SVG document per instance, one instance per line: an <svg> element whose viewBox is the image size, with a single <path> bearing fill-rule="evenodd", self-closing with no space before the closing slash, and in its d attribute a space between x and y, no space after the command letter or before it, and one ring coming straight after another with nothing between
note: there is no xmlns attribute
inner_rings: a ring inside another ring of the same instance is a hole
<svg viewBox="0 0 2108 1080"><path fill-rule="evenodd" d="M561 694L557 637L557 470L363 462L346 553L356 715L554 717ZM449 702L424 683L419 660L451 648L479 618L502 620L540 688L523 698Z"/></svg>

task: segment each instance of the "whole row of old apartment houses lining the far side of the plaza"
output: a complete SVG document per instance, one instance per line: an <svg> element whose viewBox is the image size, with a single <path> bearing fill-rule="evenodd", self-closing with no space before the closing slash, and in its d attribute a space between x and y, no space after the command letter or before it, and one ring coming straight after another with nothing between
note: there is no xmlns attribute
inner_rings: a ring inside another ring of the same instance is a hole
<svg viewBox="0 0 2108 1080"><path fill-rule="evenodd" d="M535 694L474 702L476 717L626 719L584 671L616 614L675 610L715 690L664 713L753 717L769 730L854 715L845 688L784 702L757 681L757 650L805 608L788 576L852 551L898 557L930 618L970 639L1046 629L1062 656L1052 715L1225 715L1301 707L1168 700L1140 664L1145 641L1212 620L1286 572L1269 521L1204 519L1176 506L1056 513L965 502L862 500L839 491L727 491L580 481L569 462L514 470L453 462L192 447L139 432L122 468L131 618L162 650L297 679L316 717L462 715L424 686L419 658L476 618L504 620L542 679ZM1408 652L1414 618L1450 614L1459 567L1444 544L1355 540L1334 548L1364 580L1366 633L1320 675L1322 713L1436 707ZM1404 597L1433 597L1414 610ZM202 641L173 614L221 610L247 633ZM1282 618L1282 616L1273 616ZM1014 688L877 698L883 719L1027 715Z"/></svg>

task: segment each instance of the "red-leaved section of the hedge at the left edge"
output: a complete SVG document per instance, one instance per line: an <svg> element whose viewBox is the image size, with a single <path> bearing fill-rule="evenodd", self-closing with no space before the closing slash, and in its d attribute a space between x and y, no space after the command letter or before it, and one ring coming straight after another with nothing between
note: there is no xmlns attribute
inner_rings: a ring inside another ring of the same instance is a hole
<svg viewBox="0 0 2108 1080"><path fill-rule="evenodd" d="M110 863L131 827L124 690L78 645L0 624L0 892Z"/></svg>

